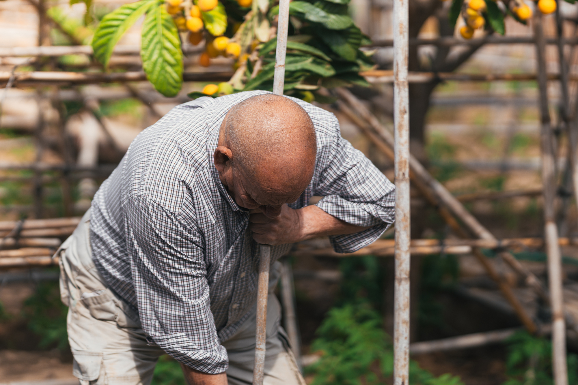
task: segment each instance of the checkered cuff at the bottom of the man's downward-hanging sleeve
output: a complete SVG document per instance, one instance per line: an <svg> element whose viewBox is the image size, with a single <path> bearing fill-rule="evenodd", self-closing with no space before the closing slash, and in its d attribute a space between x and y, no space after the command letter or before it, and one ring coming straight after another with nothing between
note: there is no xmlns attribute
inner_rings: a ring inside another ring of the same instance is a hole
<svg viewBox="0 0 578 385"><path fill-rule="evenodd" d="M229 367L227 349L218 345L216 350L207 351L200 349L192 343L183 332L147 337L147 341L154 342L169 356L175 358L181 364L189 368L207 374L223 373Z"/></svg>

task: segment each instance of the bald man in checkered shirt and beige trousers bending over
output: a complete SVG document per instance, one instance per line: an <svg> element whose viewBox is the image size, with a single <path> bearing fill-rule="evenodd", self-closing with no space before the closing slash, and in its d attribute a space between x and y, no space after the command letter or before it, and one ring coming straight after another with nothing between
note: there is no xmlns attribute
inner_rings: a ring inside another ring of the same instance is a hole
<svg viewBox="0 0 578 385"><path fill-rule="evenodd" d="M181 104L136 137L59 251L74 375L148 385L167 353L190 384L250 384L258 243L272 263L320 236L353 252L393 220L394 187L333 114L265 91ZM264 383L305 384L273 294Z"/></svg>

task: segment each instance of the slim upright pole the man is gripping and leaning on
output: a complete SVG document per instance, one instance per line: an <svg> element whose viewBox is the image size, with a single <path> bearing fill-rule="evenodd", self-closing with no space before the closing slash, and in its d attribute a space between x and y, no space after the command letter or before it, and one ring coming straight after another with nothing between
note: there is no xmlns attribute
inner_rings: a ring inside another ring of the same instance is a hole
<svg viewBox="0 0 578 385"><path fill-rule="evenodd" d="M288 29L289 0L280 0L279 19L277 21L275 75L273 77L273 94L276 95L283 95ZM263 384L263 375L265 370L265 340L267 325L267 295L269 291L269 264L271 264L271 246L260 245L259 286L257 291L257 330L255 331L255 365L253 367L253 385Z"/></svg>

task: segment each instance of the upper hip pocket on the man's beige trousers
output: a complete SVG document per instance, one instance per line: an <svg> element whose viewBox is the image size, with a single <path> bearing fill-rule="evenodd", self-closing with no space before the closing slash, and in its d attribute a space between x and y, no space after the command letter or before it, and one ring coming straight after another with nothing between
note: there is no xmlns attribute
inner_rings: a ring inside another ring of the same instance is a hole
<svg viewBox="0 0 578 385"><path fill-rule="evenodd" d="M105 289L96 296L85 297L80 300L98 320L114 321L118 327L140 328L138 314L130 306L114 296L112 291Z"/></svg>

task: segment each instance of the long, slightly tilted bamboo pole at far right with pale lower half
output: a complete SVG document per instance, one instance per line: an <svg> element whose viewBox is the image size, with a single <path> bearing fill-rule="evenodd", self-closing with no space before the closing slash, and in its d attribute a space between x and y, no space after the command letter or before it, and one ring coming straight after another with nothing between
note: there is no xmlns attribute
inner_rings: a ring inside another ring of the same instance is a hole
<svg viewBox="0 0 578 385"><path fill-rule="evenodd" d="M546 79L546 41L542 28L542 13L533 17L533 32L536 39L536 61L538 66L538 88L540 91L540 144L542 149L542 185L544 188L544 237L548 255L548 281L552 308L552 357L555 385L568 385L566 368L566 326L562 298L562 268L558 229L555 223L555 165L553 133L548 108L548 84Z"/></svg>

